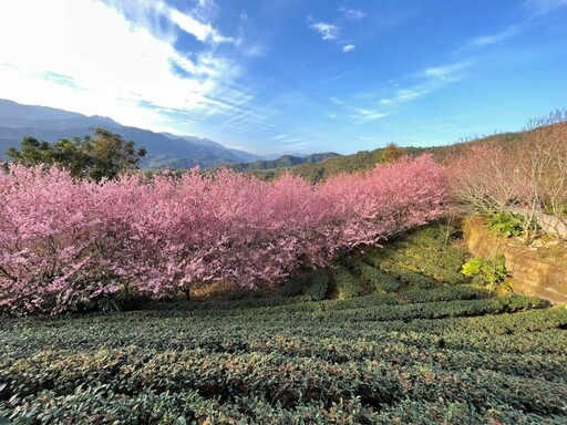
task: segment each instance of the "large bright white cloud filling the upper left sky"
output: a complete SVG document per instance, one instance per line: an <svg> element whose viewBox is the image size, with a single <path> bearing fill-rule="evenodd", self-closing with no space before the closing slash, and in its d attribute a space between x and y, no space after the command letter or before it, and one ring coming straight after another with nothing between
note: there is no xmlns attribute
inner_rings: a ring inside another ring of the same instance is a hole
<svg viewBox="0 0 567 425"><path fill-rule="evenodd" d="M131 17L147 11L146 3L138 3L141 10ZM105 3L12 0L2 6L0 97L153 129L171 129L163 112L237 114L250 100L229 87L241 71L228 59L212 51L184 56L173 48L169 29L152 31L147 21L128 20ZM226 41L208 24L167 15L202 41Z"/></svg>

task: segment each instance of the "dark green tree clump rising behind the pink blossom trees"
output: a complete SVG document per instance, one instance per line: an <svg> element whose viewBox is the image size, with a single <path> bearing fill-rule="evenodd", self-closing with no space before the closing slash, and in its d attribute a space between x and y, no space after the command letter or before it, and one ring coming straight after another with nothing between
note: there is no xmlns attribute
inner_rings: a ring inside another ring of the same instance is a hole
<svg viewBox="0 0 567 425"><path fill-rule="evenodd" d="M136 169L146 149L136 149L134 142L124 141L120 134L96 128L93 137L61 138L53 144L25 136L19 151L10 147L6 154L14 164L55 166L69 170L74 178L100 182Z"/></svg>

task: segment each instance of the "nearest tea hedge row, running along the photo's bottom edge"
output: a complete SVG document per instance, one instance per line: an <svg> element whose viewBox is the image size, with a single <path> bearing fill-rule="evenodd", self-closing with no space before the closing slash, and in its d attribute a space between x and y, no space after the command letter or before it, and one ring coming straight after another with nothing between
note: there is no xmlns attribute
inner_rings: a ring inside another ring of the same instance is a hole
<svg viewBox="0 0 567 425"><path fill-rule="evenodd" d="M78 408L81 406L81 408ZM244 407L246 406L246 407ZM240 404L219 403L196 392L157 394L152 390L126 396L109 391L105 385L80 387L73 394L58 396L45 391L39 397L16 408L19 424L49 422L56 417L65 424L94 425L104 422L124 424L539 424L563 425L564 416L540 416L507 405L494 405L485 413L462 402L436 403L404 400L380 410L364 406L360 397L342 400L326 407L305 403L292 410L272 406L258 398L243 398Z"/></svg>

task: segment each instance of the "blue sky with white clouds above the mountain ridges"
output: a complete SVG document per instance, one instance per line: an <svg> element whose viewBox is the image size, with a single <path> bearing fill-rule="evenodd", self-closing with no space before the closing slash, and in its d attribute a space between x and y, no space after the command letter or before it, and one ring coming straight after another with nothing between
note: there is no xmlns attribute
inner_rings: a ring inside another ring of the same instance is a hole
<svg viewBox="0 0 567 425"><path fill-rule="evenodd" d="M257 154L433 146L567 107L567 0L2 0L0 99Z"/></svg>

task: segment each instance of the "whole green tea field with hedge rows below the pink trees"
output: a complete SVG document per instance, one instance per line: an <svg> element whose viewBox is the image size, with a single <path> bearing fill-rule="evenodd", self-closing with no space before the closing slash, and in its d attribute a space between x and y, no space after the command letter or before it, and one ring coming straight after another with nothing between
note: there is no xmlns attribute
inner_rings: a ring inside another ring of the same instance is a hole
<svg viewBox="0 0 567 425"><path fill-rule="evenodd" d="M439 241L425 230L346 257L288 297L3 320L0 417L567 423L567 309L461 283L463 253Z"/></svg>

